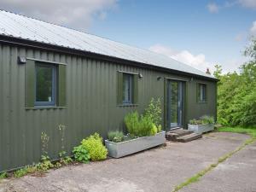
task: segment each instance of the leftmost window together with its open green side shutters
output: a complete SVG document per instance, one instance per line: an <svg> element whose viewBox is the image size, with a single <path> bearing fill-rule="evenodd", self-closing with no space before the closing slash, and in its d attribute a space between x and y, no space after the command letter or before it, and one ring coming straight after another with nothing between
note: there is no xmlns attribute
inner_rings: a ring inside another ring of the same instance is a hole
<svg viewBox="0 0 256 192"><path fill-rule="evenodd" d="M25 107L66 107L66 64L26 61Z"/></svg>

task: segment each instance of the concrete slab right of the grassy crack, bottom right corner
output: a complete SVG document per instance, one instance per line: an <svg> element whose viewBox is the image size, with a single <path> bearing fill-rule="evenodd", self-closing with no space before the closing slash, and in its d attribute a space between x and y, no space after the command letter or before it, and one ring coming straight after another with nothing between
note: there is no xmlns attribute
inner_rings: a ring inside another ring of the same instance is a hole
<svg viewBox="0 0 256 192"><path fill-rule="evenodd" d="M256 192L256 143L248 145L181 192Z"/></svg>

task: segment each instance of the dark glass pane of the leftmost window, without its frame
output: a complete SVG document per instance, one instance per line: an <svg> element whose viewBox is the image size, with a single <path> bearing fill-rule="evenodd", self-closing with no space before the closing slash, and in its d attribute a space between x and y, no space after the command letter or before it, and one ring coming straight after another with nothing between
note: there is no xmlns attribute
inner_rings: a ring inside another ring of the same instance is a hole
<svg viewBox="0 0 256 192"><path fill-rule="evenodd" d="M54 67L36 67L36 101L53 102Z"/></svg>

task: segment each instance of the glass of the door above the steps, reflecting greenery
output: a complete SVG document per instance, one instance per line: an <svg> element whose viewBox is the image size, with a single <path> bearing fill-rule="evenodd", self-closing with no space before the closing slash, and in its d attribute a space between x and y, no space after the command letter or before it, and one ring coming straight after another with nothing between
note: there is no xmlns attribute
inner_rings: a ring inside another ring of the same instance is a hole
<svg viewBox="0 0 256 192"><path fill-rule="evenodd" d="M183 125L183 82L168 81L168 126L170 129Z"/></svg>

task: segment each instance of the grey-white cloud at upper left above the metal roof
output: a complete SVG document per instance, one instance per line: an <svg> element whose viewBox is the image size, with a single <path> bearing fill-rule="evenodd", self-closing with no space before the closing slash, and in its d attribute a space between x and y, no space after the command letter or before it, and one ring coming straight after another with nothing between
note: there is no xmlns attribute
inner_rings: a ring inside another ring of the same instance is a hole
<svg viewBox="0 0 256 192"><path fill-rule="evenodd" d="M0 7L21 15L81 30L93 19L104 20L117 0L1 0Z"/></svg>

